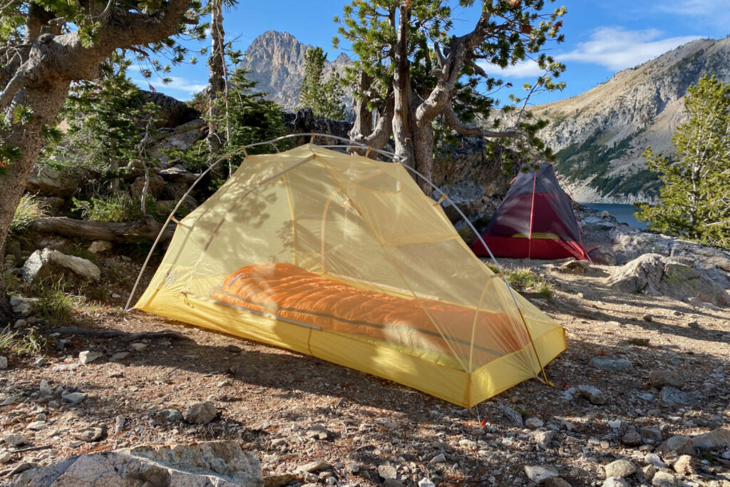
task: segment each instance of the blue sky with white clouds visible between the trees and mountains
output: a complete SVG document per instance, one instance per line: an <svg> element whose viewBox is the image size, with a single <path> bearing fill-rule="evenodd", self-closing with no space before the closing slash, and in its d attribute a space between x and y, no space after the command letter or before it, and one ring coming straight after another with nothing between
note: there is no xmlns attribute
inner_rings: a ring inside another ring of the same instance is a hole
<svg viewBox="0 0 730 487"><path fill-rule="evenodd" d="M457 3L457 2L453 2ZM480 2L475 2L480 4ZM324 47L329 58L340 51L350 54L347 46L332 48L337 34L335 15L342 15L345 1L279 0L241 1L226 13L224 28L234 47L245 51L255 37L268 30L287 31L300 42ZM534 103L545 103L582 93L608 80L613 74L693 39L719 39L730 34L730 0L564 0L548 4L548 9L565 5L565 42L550 45L550 54L566 64L561 80L564 91L542 93ZM476 8L458 10L457 34L473 25ZM206 43L207 44L207 43ZM534 63L512 66L502 76L515 86L534 80L538 71ZM131 73L142 86L147 82ZM207 68L199 64L174 66L173 82L163 85L153 78L158 91L178 99L190 99L207 82Z"/></svg>

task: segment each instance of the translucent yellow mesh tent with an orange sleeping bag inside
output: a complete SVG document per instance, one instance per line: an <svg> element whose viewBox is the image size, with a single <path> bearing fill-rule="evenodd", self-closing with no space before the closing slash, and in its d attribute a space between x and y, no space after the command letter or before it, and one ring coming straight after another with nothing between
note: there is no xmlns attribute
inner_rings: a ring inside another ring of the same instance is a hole
<svg viewBox="0 0 730 487"><path fill-rule="evenodd" d="M566 348L514 296L401 164L307 145L247 156L135 307L472 407Z"/></svg>

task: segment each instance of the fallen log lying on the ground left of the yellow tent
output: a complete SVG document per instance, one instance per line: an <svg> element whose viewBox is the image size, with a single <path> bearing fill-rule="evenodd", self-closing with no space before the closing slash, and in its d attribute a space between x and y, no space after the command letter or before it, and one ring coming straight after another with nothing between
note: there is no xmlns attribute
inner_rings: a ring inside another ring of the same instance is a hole
<svg viewBox="0 0 730 487"><path fill-rule="evenodd" d="M39 218L33 222L32 228L42 233L59 234L64 235L64 237L81 237L83 239L107 240L109 242L130 242L135 239L154 240L162 225L150 216L144 220L131 223L74 220L74 218L56 216ZM171 239L174 230L174 223L168 223L160 241Z"/></svg>

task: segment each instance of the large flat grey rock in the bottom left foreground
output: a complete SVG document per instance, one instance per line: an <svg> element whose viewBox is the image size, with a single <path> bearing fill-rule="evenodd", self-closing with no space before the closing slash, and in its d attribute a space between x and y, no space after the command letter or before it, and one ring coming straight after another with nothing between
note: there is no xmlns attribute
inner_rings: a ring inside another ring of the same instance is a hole
<svg viewBox="0 0 730 487"><path fill-rule="evenodd" d="M263 487L261 464L236 441L125 448L74 456L31 469L9 487Z"/></svg>

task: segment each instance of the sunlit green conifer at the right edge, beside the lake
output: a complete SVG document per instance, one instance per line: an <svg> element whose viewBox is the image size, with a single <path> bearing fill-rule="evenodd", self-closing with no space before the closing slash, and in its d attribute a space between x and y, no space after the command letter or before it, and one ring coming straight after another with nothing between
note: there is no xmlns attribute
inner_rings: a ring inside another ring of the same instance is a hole
<svg viewBox="0 0 730 487"><path fill-rule="evenodd" d="M639 204L637 219L650 229L707 245L730 247L730 83L705 75L688 88L689 120L672 142L676 161L644 153L664 186L661 204Z"/></svg>

